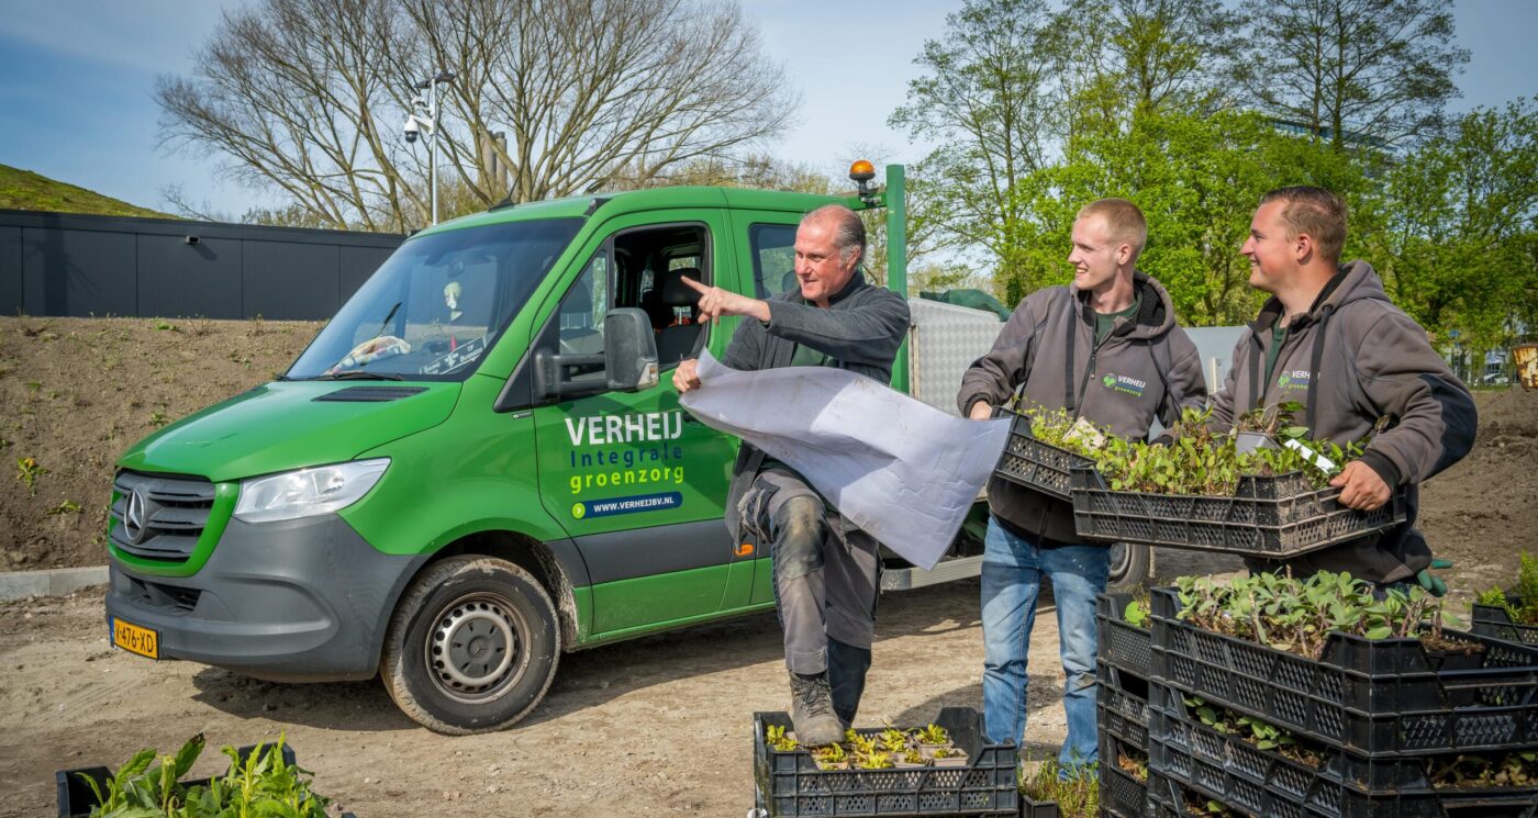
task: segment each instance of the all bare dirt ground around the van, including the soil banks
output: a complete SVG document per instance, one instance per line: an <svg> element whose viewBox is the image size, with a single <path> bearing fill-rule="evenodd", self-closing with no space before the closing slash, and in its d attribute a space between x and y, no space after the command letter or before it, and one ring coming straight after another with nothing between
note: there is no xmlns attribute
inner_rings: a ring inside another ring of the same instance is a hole
<svg viewBox="0 0 1538 818"><path fill-rule="evenodd" d="M48 471L35 497L0 480L0 569L100 564L112 460L181 417L281 371L317 324L0 318L0 449ZM160 326L166 326L161 329ZM195 372L197 378L188 378ZM1538 394L1481 392L1475 452L1429 483L1421 523L1449 583L1507 584L1538 550ZM58 509L71 500L78 514ZM1232 558L1160 552L1158 574L1229 572ZM881 601L860 723L920 723L981 703L975 580ZM544 704L512 730L446 738L377 681L272 684L108 647L102 589L0 604L0 818L52 813L54 770L118 764L195 732L209 744L286 733L315 789L360 818L424 815L743 815L754 710L786 707L780 632L755 615L563 657ZM1055 618L1032 641L1029 743L1063 740ZM215 772L208 750L198 775Z"/></svg>

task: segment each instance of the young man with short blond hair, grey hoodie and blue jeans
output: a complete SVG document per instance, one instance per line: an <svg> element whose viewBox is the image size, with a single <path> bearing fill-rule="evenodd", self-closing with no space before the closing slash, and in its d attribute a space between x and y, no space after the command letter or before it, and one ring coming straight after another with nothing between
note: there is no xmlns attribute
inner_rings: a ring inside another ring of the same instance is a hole
<svg viewBox="0 0 1538 818"><path fill-rule="evenodd" d="M975 420L1020 391L1020 407L1063 409L1124 438L1146 438L1154 418L1173 423L1203 406L1195 344L1175 324L1164 288L1137 269L1147 240L1143 212L1103 198L1074 221L1074 283L1032 292L994 349L961 380L957 403ZM994 741L1024 746L1026 658L1041 578L1052 580L1067 683L1064 775L1098 760L1095 744L1095 595L1106 589L1109 546L1080 543L1063 500L994 478L983 550L983 718Z"/></svg>

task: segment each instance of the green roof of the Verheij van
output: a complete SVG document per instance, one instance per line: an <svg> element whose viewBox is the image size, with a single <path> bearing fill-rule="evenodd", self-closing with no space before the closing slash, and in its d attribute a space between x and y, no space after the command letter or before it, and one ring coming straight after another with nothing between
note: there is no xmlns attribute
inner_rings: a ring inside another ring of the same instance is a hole
<svg viewBox="0 0 1538 818"><path fill-rule="evenodd" d="M757 191L751 188L651 188L646 191L575 195L494 208L486 212L464 215L452 221L428 228L418 235L457 231L463 228L478 228L483 224L529 221L535 218L571 218L598 214L612 217L620 214L666 211L674 208L729 208L804 214L814 208L829 203L843 203L855 209L866 208L855 197L794 194L787 191Z"/></svg>

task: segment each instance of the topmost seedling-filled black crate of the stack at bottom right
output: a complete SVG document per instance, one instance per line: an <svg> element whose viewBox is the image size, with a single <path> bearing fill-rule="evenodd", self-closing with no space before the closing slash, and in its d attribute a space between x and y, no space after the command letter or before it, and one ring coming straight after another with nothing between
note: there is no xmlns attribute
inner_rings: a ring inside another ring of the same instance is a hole
<svg viewBox="0 0 1538 818"><path fill-rule="evenodd" d="M1538 646L1443 627L1413 587L1320 572L1154 589L1154 677L1364 755L1538 746Z"/></svg>

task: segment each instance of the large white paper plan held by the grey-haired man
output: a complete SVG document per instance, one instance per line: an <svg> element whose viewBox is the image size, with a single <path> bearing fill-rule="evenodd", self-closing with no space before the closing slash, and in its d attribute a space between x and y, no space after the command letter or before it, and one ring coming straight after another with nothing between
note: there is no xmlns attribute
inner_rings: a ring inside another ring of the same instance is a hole
<svg viewBox="0 0 1538 818"><path fill-rule="evenodd" d="M1007 420L947 415L827 366L743 372L700 357L680 404L801 474L846 518L923 569L950 546L1009 440Z"/></svg>

